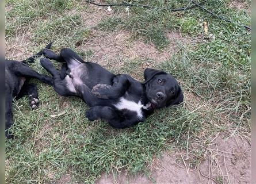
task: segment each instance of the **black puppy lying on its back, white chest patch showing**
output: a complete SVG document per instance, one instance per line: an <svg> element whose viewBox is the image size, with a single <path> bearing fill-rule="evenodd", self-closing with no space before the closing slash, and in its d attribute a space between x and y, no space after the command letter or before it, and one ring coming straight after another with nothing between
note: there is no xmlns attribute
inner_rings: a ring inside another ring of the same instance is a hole
<svg viewBox="0 0 256 184"><path fill-rule="evenodd" d="M89 120L103 119L116 128L131 127L142 122L154 109L183 101L181 87L164 71L147 68L145 82L126 74L114 75L97 63L84 62L71 49L60 55L44 49L44 56L65 62L59 72L52 63L41 58L41 65L54 76L54 89L59 95L79 96L91 108Z"/></svg>

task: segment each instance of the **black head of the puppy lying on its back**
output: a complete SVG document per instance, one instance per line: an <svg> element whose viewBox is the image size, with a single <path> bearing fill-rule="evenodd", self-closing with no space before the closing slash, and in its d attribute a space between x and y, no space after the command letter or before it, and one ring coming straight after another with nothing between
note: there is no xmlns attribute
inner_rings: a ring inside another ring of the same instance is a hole
<svg viewBox="0 0 256 184"><path fill-rule="evenodd" d="M180 104L183 93L176 79L161 70L147 68L144 70L147 98L153 109Z"/></svg>

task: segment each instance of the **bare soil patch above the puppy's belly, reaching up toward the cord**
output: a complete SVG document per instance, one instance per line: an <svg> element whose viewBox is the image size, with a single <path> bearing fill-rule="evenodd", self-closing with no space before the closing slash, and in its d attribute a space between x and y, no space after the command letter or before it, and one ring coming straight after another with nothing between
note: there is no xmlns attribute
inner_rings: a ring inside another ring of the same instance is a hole
<svg viewBox="0 0 256 184"><path fill-rule="evenodd" d="M145 43L143 39L135 40L126 30L104 32L94 29L100 21L113 16L113 13L113 10L108 11L106 7L94 5L88 5L88 8L81 12L83 25L91 28L91 36L83 41L78 48L84 52L92 51L93 55L87 59L102 64L102 66L108 63L116 64L118 67L121 61L133 59L145 61L143 67L154 66L156 63L169 59L173 53L177 52L177 43L193 42L190 38L184 38L176 32L167 32L166 36L170 44L159 51L152 43ZM148 60L150 60L150 64L146 62Z"/></svg>

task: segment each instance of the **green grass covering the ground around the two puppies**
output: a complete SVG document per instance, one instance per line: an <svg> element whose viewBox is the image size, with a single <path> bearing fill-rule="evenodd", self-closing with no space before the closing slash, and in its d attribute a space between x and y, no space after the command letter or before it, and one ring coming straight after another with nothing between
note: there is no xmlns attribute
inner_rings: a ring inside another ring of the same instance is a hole
<svg viewBox="0 0 256 184"><path fill-rule="evenodd" d="M188 1L140 3L182 7ZM249 25L248 11L231 9L229 3L207 1L204 6ZM82 1L9 0L6 4L11 7L6 13L6 42L12 43L20 32L30 34L32 45L28 49L33 53L54 40L55 51L70 47L83 58L90 58L93 51L81 48L90 37L97 36L93 33L98 29L113 35L127 30L133 39L153 43L159 50L170 44L168 32L201 40L180 43L177 53L156 66L173 74L181 83L184 104L156 110L146 122L132 128L118 130L104 121L89 122L85 117L88 106L82 99L59 97L51 87L38 83L39 109L31 111L26 98L14 102L12 129L16 139L6 140L7 183L51 183L66 174L71 175L72 182L93 183L104 171L148 173L152 159L165 150L185 151L186 162L196 167L218 133L250 137L251 48L250 32L246 29L197 8L171 13L132 7L128 14L124 7L116 7L110 16L102 17L91 28L82 18L83 11L91 7ZM208 22L212 36L204 34L201 26L204 21ZM106 64L106 67L143 80L139 71L143 70L144 62L147 61L127 58L120 66ZM47 74L39 60L31 67ZM225 181L224 176L216 180Z"/></svg>

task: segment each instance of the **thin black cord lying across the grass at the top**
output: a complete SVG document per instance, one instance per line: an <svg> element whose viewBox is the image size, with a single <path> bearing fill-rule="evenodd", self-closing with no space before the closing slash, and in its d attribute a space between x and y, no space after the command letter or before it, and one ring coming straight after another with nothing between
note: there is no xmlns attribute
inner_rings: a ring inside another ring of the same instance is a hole
<svg viewBox="0 0 256 184"><path fill-rule="evenodd" d="M200 7L202 10L207 11L209 14L212 14L212 16L215 16L217 18L219 18L220 20L224 20L226 22L231 22L233 24L236 24L235 22L228 20L227 18L218 16L217 14L213 13L212 11L209 11L208 9L206 9L204 6L201 6L200 4L192 1L192 3L194 5L191 5L189 7L181 7L178 9L171 9L171 8L162 8L162 7L155 7L155 6L147 6L147 5L140 5L140 4L130 4L130 3L111 3L111 4L100 4L100 3L95 3L93 1L90 0L85 0L86 2L89 2L93 5L97 5L97 6L139 6L139 7L146 7L146 8L150 8L150 9L159 9L159 10L167 10L167 11L184 11L184 10L188 10L188 9L192 9L193 7ZM239 26L243 26L244 28L247 28L249 30L251 30L251 28L247 25L243 25L243 24L238 24Z"/></svg>

